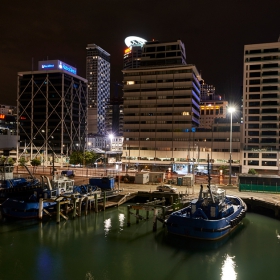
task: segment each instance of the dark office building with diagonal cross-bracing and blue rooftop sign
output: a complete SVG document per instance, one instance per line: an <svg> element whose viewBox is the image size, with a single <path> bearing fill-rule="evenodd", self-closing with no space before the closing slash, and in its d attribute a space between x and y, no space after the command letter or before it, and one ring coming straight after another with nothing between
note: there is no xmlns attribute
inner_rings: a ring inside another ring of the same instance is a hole
<svg viewBox="0 0 280 280"><path fill-rule="evenodd" d="M85 149L87 80L60 61L39 61L37 71L18 73L18 157L40 158L42 164ZM60 159L60 160L59 160Z"/></svg>

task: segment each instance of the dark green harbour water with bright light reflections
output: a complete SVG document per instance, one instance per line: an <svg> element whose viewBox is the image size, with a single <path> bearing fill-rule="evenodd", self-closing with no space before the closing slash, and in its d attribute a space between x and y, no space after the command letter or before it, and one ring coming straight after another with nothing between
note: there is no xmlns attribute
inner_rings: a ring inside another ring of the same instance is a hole
<svg viewBox="0 0 280 280"><path fill-rule="evenodd" d="M172 237L126 206L54 220L0 223L0 280L279 279L280 222L247 213L217 242ZM141 214L141 213L140 213Z"/></svg>

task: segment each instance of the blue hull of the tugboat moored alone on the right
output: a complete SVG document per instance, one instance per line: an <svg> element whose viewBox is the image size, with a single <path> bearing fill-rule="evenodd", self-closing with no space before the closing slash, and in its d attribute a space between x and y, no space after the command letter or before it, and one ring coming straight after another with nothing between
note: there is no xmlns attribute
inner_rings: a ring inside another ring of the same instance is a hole
<svg viewBox="0 0 280 280"><path fill-rule="evenodd" d="M171 234L204 240L223 238L234 230L245 217L245 203L237 197L231 197L237 202L233 205L232 214L221 219L205 219L193 217L191 206L172 213L166 220L167 231Z"/></svg>

